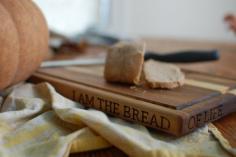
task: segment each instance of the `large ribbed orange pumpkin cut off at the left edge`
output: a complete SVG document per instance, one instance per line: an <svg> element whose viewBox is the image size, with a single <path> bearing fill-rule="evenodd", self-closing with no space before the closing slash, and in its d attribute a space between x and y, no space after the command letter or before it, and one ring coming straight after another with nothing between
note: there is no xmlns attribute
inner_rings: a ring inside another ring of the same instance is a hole
<svg viewBox="0 0 236 157"><path fill-rule="evenodd" d="M49 31L31 0L0 0L0 90L27 79L46 57Z"/></svg>

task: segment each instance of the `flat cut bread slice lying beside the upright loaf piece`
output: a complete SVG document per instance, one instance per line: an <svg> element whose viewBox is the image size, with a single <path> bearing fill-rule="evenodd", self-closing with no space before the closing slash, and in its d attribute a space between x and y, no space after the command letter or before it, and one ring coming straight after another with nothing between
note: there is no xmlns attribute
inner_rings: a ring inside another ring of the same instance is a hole
<svg viewBox="0 0 236 157"><path fill-rule="evenodd" d="M151 88L173 89L182 86L185 80L179 67L154 60L144 63L144 75Z"/></svg>

